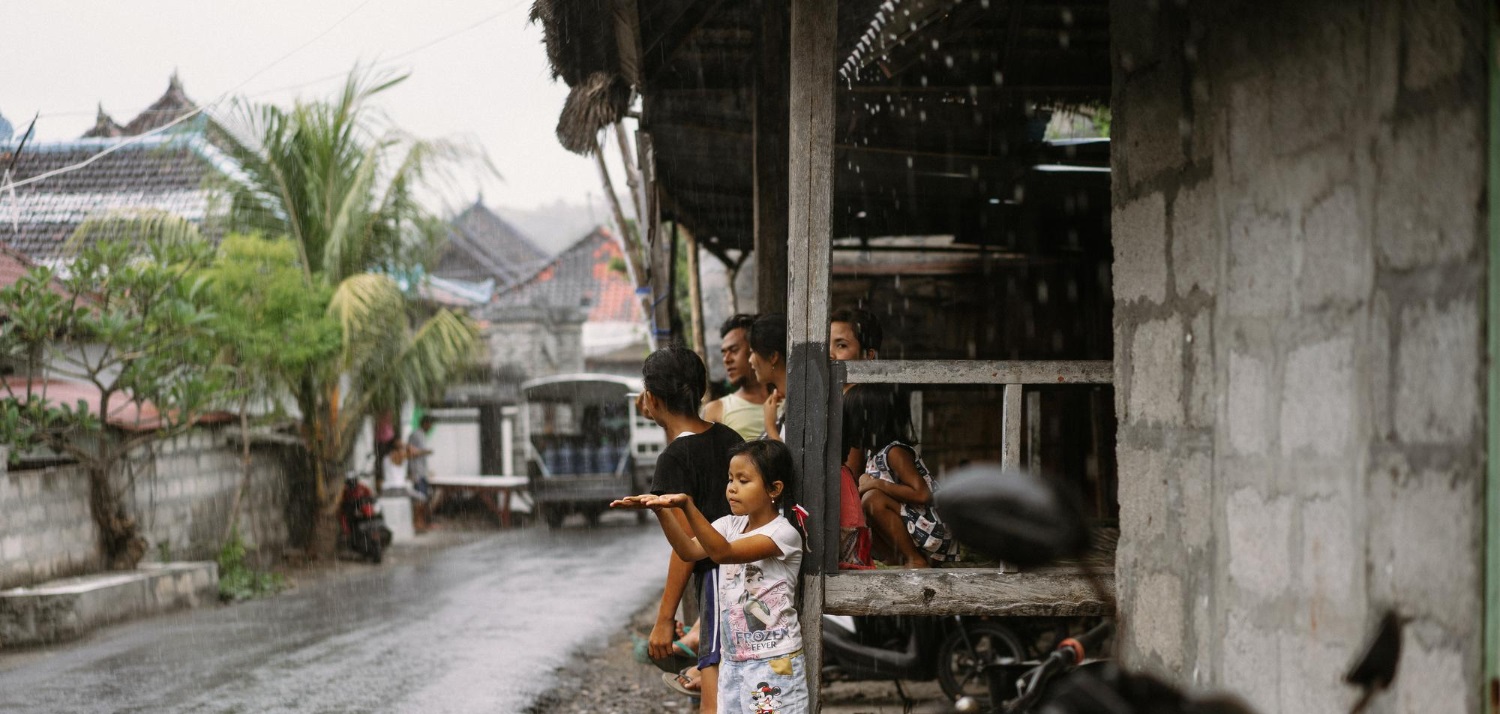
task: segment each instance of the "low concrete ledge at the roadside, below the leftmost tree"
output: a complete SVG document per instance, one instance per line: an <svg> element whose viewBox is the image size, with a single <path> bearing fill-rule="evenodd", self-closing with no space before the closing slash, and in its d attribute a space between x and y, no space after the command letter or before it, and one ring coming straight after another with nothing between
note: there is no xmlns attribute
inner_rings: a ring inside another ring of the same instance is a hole
<svg viewBox="0 0 1500 714"><path fill-rule="evenodd" d="M104 624L218 598L214 562L141 564L132 572L6 590L0 591L0 648L63 642Z"/></svg>

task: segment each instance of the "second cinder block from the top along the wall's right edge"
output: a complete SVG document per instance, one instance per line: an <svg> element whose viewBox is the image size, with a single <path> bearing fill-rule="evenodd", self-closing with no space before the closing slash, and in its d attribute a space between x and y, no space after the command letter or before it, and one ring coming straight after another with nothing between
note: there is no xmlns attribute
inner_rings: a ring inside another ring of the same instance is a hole
<svg viewBox="0 0 1500 714"><path fill-rule="evenodd" d="M1479 112L1414 116L1376 147L1376 248L1382 266L1473 260L1485 147Z"/></svg>

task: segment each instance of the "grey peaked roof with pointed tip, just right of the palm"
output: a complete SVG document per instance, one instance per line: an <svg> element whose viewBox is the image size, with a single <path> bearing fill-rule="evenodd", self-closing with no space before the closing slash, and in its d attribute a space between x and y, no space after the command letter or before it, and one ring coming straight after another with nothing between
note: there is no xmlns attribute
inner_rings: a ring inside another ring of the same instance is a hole
<svg viewBox="0 0 1500 714"><path fill-rule="evenodd" d="M548 254L483 201L474 201L452 225L448 246L432 270L435 276L506 286L530 278L548 260Z"/></svg>

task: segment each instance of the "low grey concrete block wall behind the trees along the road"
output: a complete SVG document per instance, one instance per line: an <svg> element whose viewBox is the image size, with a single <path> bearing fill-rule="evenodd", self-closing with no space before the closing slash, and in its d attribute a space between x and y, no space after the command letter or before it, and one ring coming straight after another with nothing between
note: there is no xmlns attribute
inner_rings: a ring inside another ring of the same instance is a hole
<svg viewBox="0 0 1500 714"><path fill-rule="evenodd" d="M232 429L195 429L132 462L129 496L148 543L147 561L214 560L234 489L240 450ZM286 462L274 448L252 450L254 476L240 510L240 532L264 554L288 543ZM117 476L128 482L124 474ZM165 543L165 548L160 544ZM0 459L0 590L104 567L88 512L88 477L76 465L10 470Z"/></svg>

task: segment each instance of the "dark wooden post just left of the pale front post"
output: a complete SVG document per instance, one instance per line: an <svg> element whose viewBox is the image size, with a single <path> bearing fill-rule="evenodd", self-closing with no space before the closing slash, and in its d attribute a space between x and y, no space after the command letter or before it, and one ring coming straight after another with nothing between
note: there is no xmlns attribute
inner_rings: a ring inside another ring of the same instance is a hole
<svg viewBox="0 0 1500 714"><path fill-rule="evenodd" d="M754 68L754 300L762 315L788 309L788 2L762 0Z"/></svg>

